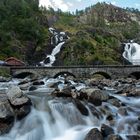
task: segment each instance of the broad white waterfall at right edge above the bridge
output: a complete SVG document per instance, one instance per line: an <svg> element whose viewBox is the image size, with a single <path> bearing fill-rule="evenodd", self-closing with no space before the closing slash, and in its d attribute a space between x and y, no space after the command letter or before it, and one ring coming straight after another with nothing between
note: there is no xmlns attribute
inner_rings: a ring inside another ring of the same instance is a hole
<svg viewBox="0 0 140 140"><path fill-rule="evenodd" d="M133 65L140 65L140 45L137 43L126 43L123 57Z"/></svg>

